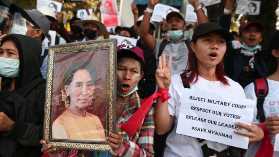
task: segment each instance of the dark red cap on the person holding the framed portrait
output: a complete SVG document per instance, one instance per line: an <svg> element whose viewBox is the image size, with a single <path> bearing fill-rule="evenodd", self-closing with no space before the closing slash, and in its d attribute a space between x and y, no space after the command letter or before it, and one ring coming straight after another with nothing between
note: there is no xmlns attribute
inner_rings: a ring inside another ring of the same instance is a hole
<svg viewBox="0 0 279 157"><path fill-rule="evenodd" d="M136 54L136 56L139 57L139 60L142 61L143 65L144 65L144 56L143 56L143 51L141 48L139 48L138 46L134 46L131 44L123 44L123 45L119 45L117 46L117 53L129 53L129 52L133 52L134 54Z"/></svg>

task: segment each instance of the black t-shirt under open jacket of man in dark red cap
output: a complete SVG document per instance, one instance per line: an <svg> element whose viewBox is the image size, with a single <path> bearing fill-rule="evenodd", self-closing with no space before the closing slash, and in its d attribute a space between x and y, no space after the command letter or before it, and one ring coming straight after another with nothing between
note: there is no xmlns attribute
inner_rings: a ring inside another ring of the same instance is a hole
<svg viewBox="0 0 279 157"><path fill-rule="evenodd" d="M248 84L253 82L255 79L261 78L261 75L258 72L256 66L254 65L254 68L251 68L251 66L249 65L249 61L251 58L252 58L252 56L243 55L245 66L237 81L242 86L242 88L246 87Z"/></svg>

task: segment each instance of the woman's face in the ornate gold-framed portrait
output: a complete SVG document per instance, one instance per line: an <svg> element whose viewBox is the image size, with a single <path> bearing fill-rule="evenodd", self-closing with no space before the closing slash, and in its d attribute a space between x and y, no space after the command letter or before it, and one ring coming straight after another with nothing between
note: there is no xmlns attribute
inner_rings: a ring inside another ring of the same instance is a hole
<svg viewBox="0 0 279 157"><path fill-rule="evenodd" d="M64 89L70 96L70 107L84 109L92 103L95 85L87 70L77 70L72 82L64 85Z"/></svg>

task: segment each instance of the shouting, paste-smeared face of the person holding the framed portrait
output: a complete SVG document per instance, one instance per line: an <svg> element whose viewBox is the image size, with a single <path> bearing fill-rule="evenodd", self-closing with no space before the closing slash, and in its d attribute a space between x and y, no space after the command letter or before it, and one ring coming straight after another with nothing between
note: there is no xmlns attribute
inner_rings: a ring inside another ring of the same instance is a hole
<svg viewBox="0 0 279 157"><path fill-rule="evenodd" d="M134 58L120 58L117 62L117 90L121 94L130 93L143 76L140 71L140 63Z"/></svg>

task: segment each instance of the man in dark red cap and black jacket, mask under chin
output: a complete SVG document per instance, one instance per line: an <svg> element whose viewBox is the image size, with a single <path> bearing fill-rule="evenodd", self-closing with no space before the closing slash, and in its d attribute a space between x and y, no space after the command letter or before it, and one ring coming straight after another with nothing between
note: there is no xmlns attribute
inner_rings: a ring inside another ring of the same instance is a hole
<svg viewBox="0 0 279 157"><path fill-rule="evenodd" d="M262 50L260 45L263 31L264 26L260 21L247 22L240 29L241 48L228 48L225 72L243 88L255 79L267 77L270 53Z"/></svg>

